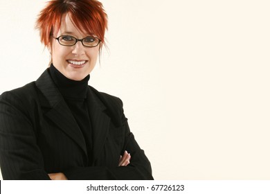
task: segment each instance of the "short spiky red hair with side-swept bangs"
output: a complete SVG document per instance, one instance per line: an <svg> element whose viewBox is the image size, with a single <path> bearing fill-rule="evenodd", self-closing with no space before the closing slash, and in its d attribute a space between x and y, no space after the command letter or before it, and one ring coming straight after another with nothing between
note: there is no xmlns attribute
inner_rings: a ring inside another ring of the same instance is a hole
<svg viewBox="0 0 270 194"><path fill-rule="evenodd" d="M105 44L107 30L107 14L102 3L97 0L52 0L40 12L36 28L39 30L41 42L48 46L51 35L57 33L62 18L69 14L73 24L82 32L96 35Z"/></svg>

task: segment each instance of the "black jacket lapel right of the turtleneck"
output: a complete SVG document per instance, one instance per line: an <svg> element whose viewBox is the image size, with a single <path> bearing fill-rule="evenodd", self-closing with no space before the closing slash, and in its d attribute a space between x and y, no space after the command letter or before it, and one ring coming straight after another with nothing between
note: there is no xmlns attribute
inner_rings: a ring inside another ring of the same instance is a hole
<svg viewBox="0 0 270 194"><path fill-rule="evenodd" d="M106 107L98 98L98 94L95 94L89 87L87 94L87 105L89 109L89 116L92 125L93 135L93 164L100 155L100 152L107 139L107 133L109 131L109 124L111 118L105 113Z"/></svg>

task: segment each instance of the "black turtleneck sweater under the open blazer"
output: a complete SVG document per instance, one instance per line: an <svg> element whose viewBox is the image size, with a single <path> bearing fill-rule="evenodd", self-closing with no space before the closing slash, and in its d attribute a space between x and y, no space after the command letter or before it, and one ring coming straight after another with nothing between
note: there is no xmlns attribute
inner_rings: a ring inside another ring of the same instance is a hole
<svg viewBox="0 0 270 194"><path fill-rule="evenodd" d="M91 164L93 140L89 110L87 108L87 89L90 76L88 75L80 81L70 80L60 73L53 64L49 67L49 71L53 82L55 82L55 85L62 94L66 104L69 106L69 109L71 109L71 112L84 135L84 140L87 144L89 164Z"/></svg>

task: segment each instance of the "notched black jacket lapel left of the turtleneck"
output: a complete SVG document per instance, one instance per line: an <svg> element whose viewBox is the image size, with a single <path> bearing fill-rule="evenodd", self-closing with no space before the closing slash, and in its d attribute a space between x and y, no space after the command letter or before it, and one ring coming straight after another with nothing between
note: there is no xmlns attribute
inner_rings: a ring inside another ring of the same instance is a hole
<svg viewBox="0 0 270 194"><path fill-rule="evenodd" d="M41 106L48 109L44 113L55 125L73 139L87 155L87 147L80 127L75 121L69 107L66 105L60 91L55 86L48 69L36 81L37 88L46 99L40 100Z"/></svg>

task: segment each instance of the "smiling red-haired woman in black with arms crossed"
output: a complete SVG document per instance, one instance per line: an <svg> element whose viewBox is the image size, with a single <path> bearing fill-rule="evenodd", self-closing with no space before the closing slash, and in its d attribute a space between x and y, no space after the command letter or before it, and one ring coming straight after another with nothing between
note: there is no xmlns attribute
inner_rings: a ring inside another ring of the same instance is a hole
<svg viewBox="0 0 270 194"><path fill-rule="evenodd" d="M0 96L3 179L153 179L122 101L88 86L105 43L102 3L49 1L37 29L51 65Z"/></svg>

